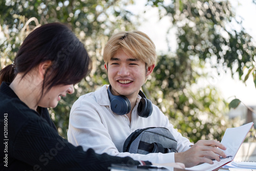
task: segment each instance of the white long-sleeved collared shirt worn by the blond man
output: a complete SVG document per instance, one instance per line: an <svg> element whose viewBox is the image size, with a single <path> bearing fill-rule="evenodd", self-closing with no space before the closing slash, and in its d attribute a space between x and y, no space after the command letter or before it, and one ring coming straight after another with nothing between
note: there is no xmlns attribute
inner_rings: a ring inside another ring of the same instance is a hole
<svg viewBox="0 0 256 171"><path fill-rule="evenodd" d="M137 129L145 127L166 127L177 140L178 152L184 152L192 144L177 132L168 118L153 104L153 113L148 118L137 115L137 103L132 111L131 122L126 115L117 115L110 109L107 85L99 90L82 95L73 104L70 112L68 140L72 144L81 145L84 151L93 148L98 154L107 153L112 156L132 157L135 160L148 160L152 163L175 162L174 153L151 153L147 155L123 153L123 143Z"/></svg>

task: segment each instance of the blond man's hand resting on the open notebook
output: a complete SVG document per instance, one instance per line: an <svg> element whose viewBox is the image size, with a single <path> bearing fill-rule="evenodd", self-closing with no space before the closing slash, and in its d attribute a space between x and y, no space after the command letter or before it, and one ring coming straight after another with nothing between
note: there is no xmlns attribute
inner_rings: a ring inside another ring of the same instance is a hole
<svg viewBox="0 0 256 171"><path fill-rule="evenodd" d="M184 163L186 167L193 167L199 163L213 164L212 159L220 161L227 157L221 150L226 147L215 140L199 140L185 152L175 153L175 162Z"/></svg>

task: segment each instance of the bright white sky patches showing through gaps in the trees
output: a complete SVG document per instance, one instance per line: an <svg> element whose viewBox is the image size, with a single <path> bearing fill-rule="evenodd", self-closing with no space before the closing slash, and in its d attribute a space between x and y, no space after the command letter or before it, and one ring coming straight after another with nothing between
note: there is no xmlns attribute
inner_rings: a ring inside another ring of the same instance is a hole
<svg viewBox="0 0 256 171"><path fill-rule="evenodd" d="M157 9L147 9L146 13L142 13L143 4L146 2L145 0L136 0L136 6L130 8L135 13L141 13L147 18L146 22L141 23L141 26L138 30L146 33L148 36L152 38L156 45L157 52L167 51L166 45L166 31L167 26L170 25L168 18L162 18L160 22L158 22L158 11ZM252 4L252 0L230 0L232 6L235 9L235 12L238 17L242 17L243 19L243 27L246 29L246 32L249 33L254 40L256 41L256 5ZM175 33L172 31L168 38L173 38ZM176 41L176 39L175 39ZM171 45L176 48L176 43ZM256 88L253 83L252 76L249 77L245 84L238 79L238 75L235 75L235 79L231 78L230 73L222 72L221 75L218 75L217 72L211 72L214 78L210 78L208 80L203 81L205 84L211 84L216 86L224 99L230 102L236 98L239 98L246 105L256 105Z"/></svg>

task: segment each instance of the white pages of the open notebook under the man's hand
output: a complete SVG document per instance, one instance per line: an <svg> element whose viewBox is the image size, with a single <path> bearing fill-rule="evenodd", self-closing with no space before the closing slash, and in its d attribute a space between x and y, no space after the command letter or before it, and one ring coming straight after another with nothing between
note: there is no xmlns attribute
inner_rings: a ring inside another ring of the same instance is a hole
<svg viewBox="0 0 256 171"><path fill-rule="evenodd" d="M250 131L253 122L239 127L228 128L222 138L221 143L227 148L224 152L227 158L222 158L220 162L214 161L214 164L203 163L194 167L186 168L187 170L215 170L226 163L229 163L236 156L238 149L243 143L246 135Z"/></svg>

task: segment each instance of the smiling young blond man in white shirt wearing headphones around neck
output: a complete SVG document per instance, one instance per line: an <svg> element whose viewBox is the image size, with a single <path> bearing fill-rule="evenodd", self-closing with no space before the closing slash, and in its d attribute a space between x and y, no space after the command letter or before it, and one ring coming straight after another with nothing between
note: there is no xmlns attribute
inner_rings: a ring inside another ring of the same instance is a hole
<svg viewBox="0 0 256 171"><path fill-rule="evenodd" d="M111 86L104 85L74 103L68 130L71 143L81 145L84 150L93 148L99 154L130 156L153 163L181 162L186 167L226 157L221 150L225 147L217 141L190 143L160 109L140 93L157 60L155 45L146 34L140 31L115 34L104 48L103 59ZM177 140L179 153L123 153L125 139L135 130L146 127L167 128Z"/></svg>

